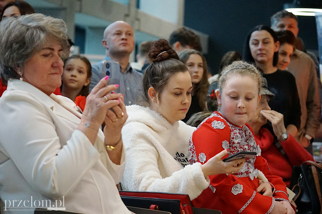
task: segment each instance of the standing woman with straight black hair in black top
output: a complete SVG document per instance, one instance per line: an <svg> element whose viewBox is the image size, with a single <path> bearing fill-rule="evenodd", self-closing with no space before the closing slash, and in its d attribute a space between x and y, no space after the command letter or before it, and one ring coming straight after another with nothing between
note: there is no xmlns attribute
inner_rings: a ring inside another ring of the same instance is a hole
<svg viewBox="0 0 322 214"><path fill-rule="evenodd" d="M256 63L263 77L267 79L268 89L275 94L270 100L270 107L284 115L287 132L295 136L301 122L298 91L294 76L276 67L278 50L276 33L270 27L259 25L249 32L243 56L246 61ZM272 128L269 129L273 133Z"/></svg>

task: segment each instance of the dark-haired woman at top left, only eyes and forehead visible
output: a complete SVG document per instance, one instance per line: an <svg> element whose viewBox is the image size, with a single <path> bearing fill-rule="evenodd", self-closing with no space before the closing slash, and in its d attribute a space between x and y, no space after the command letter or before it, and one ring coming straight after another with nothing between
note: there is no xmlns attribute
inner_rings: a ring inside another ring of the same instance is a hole
<svg viewBox="0 0 322 214"><path fill-rule="evenodd" d="M35 13L33 7L25 1L12 1L6 4L1 13L1 20L9 16L20 16Z"/></svg>

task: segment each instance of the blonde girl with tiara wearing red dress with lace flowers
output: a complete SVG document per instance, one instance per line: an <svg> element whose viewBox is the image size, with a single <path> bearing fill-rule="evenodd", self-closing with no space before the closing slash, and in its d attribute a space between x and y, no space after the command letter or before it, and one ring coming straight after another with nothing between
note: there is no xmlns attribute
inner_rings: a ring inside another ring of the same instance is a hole
<svg viewBox="0 0 322 214"><path fill-rule="evenodd" d="M260 101L261 79L257 69L243 61L225 67L216 96L219 111L214 111L190 138L190 162L206 163L211 157L229 150L256 152L246 159L241 170L231 174L211 175L209 188L193 201L194 206L220 210L222 213L295 213L282 179L272 175L260 155L254 133L246 123ZM246 123L246 124L245 124ZM265 188L259 187L266 183ZM271 191L270 188L275 191Z"/></svg>

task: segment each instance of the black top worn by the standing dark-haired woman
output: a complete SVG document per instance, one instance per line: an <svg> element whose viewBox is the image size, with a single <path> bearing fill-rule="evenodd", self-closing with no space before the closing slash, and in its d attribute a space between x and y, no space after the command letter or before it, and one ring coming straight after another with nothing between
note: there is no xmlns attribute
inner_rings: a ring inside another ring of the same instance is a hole
<svg viewBox="0 0 322 214"><path fill-rule="evenodd" d="M267 79L268 89L275 94L269 106L272 110L284 115L284 125L295 125L298 129L301 124L301 106L298 98L295 77L288 71L277 69L272 74L263 74Z"/></svg>

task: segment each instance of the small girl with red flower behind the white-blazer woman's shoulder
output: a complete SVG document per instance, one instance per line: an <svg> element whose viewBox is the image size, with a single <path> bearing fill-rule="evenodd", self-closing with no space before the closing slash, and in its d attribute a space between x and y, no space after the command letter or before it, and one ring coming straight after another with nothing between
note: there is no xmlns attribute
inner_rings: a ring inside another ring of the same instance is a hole
<svg viewBox="0 0 322 214"><path fill-rule="evenodd" d="M92 67L86 57L72 55L65 60L62 73L62 95L74 101L81 111L85 108L91 76Z"/></svg>

